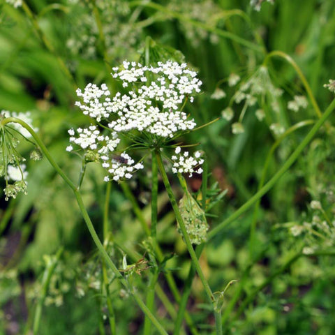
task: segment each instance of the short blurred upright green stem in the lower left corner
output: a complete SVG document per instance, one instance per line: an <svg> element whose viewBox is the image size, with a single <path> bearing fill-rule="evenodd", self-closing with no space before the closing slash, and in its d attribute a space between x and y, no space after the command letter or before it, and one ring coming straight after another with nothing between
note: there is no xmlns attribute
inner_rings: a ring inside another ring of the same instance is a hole
<svg viewBox="0 0 335 335"><path fill-rule="evenodd" d="M50 280L52 277L52 274L54 273L54 269L57 266L57 263L59 261L59 258L61 257L61 253L63 253L64 248L59 248L59 251L57 251L54 258L50 258L50 264L46 265L45 271L43 273L42 278L42 292L40 294L40 299L38 300L38 304L36 306L36 311L34 315L34 325L33 325L33 334L38 334L38 329L40 327L40 317L42 315L42 309L45 297L47 296L47 290L49 289Z"/></svg>

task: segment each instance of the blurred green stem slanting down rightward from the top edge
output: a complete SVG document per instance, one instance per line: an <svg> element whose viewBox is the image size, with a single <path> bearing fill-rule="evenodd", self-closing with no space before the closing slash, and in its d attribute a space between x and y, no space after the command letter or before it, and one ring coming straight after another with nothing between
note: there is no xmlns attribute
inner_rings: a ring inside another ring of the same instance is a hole
<svg viewBox="0 0 335 335"><path fill-rule="evenodd" d="M260 45L256 45L255 43L251 43L248 40L245 40L244 38L241 38L235 34L230 33L229 31L224 31L222 29L218 29L216 27L212 27L209 24L205 24L202 22L199 22L197 20L193 20L181 13L177 13L174 10L170 10L168 8L166 8L165 6L159 5L158 3L154 3L151 1L143 1L143 0L135 0L135 1L131 1L129 2L129 6L133 7L133 6L143 6L143 7L147 7L147 8L152 8L154 10L159 10L163 13L165 13L168 17L174 17L177 20L180 20L181 22L187 22L189 24L192 24L194 27L198 27L200 29L204 29L205 31L209 31L211 33L214 33L218 36L221 36L223 38L228 38L230 40L233 40L234 42L237 42L241 45L244 45L245 47L248 47L251 50L254 50L256 52L262 52L264 53L264 49L263 47L261 47Z"/></svg>

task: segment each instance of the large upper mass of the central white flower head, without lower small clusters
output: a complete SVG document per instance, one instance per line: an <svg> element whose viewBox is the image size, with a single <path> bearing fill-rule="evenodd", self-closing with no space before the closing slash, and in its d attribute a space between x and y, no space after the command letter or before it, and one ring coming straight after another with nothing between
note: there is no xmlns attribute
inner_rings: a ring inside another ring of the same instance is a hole
<svg viewBox="0 0 335 335"><path fill-rule="evenodd" d="M153 67L124 61L123 69L113 70L113 77L122 81L128 94L117 93L110 98L105 84L101 87L88 84L84 92L77 90L83 103L78 101L76 105L84 114L98 122L111 118L108 127L118 133L137 130L174 137L179 131L195 127L195 121L188 119L180 108L187 96L200 92L202 83L186 64L167 61ZM153 80L147 82L147 76ZM190 101L193 101L192 96Z"/></svg>

